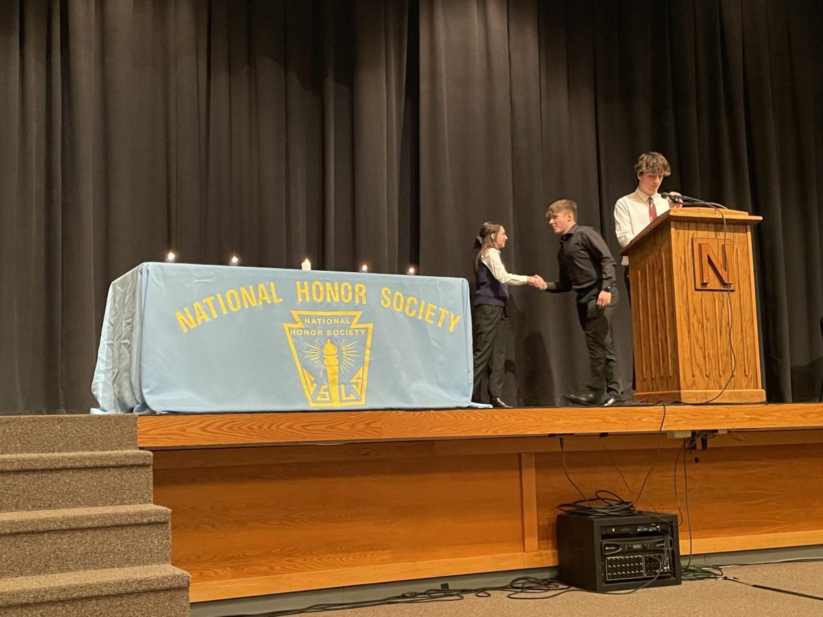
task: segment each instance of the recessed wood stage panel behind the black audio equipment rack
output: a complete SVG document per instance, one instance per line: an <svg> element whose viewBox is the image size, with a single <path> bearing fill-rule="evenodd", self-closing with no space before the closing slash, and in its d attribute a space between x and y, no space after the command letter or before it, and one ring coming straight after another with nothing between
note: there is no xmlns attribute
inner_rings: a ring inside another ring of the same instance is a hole
<svg viewBox="0 0 823 617"><path fill-rule="evenodd" d="M573 439L573 438L571 438ZM566 480L558 452L537 455L537 502L542 519L540 548L554 548L558 503L580 499ZM678 461L677 470L675 461ZM634 500L652 463L638 507L681 514L681 539L688 539L683 453L679 449L565 452L574 483L588 496L610 489ZM696 551L745 550L752 538L768 545L774 534L823 534L821 443L752 445L726 448L709 442L706 450L686 452L689 512L695 538L706 540ZM677 479L677 483L675 480ZM677 493L676 493L677 491ZM746 543L730 539L747 536ZM725 544L712 545L712 538ZM765 547L761 544L757 548Z"/></svg>

